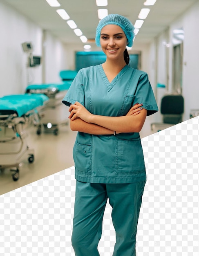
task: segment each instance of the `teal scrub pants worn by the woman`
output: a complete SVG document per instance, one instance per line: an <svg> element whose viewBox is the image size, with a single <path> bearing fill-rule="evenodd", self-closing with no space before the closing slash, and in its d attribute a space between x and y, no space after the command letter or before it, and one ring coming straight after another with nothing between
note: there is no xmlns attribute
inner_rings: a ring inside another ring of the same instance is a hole
<svg viewBox="0 0 199 256"><path fill-rule="evenodd" d="M136 232L145 181L95 184L76 181L72 247L76 256L99 256L104 210L109 198L116 231L113 256L136 256Z"/></svg>

